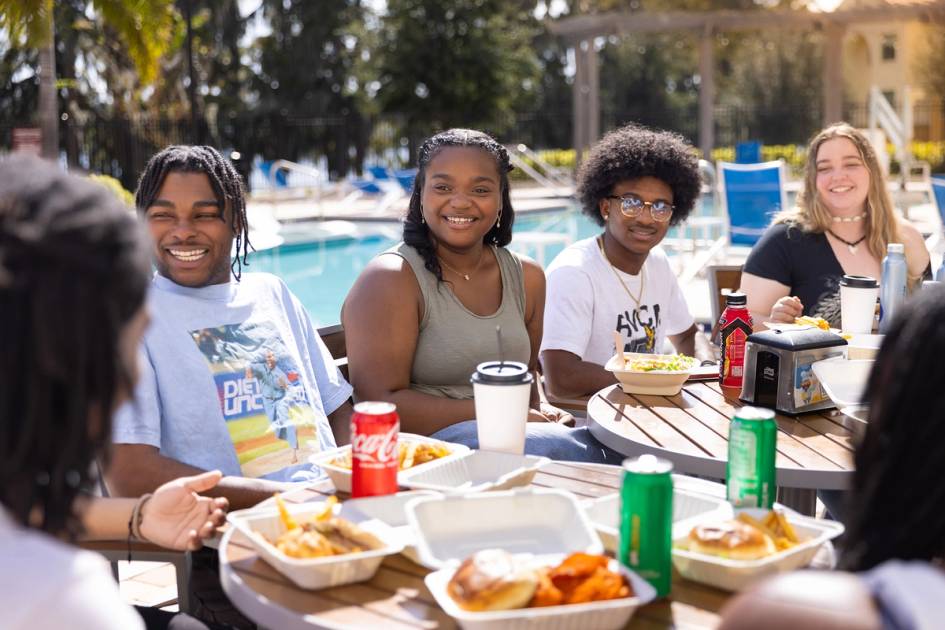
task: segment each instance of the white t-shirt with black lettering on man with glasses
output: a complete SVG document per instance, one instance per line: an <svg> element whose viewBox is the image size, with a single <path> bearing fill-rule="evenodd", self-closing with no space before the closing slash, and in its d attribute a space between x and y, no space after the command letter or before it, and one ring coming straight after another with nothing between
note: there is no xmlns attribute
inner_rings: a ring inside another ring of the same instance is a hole
<svg viewBox="0 0 945 630"><path fill-rule="evenodd" d="M597 237L568 246L548 266L541 349L566 350L604 365L614 355L614 331L624 351L660 353L667 335L685 332L694 320L679 282L660 247L650 250L640 273L617 270L637 305L614 276ZM643 293L640 294L640 284Z"/></svg>

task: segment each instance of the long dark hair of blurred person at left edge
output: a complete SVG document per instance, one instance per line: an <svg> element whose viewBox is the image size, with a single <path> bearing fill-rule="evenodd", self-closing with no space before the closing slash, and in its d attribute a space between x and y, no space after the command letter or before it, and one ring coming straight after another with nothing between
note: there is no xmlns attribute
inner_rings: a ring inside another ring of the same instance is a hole
<svg viewBox="0 0 945 630"><path fill-rule="evenodd" d="M0 503L24 526L81 532L75 499L94 490L117 394L134 388L120 342L144 304L146 243L104 186L0 161Z"/></svg>

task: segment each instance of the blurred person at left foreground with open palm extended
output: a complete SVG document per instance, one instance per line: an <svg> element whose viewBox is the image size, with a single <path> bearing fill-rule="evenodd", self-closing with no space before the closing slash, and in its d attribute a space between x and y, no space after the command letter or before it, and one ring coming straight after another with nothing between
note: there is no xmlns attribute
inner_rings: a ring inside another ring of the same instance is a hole
<svg viewBox="0 0 945 630"><path fill-rule="evenodd" d="M112 412L138 378L148 324L144 234L99 184L35 158L0 161L0 589L17 628L204 628L125 604L103 558L77 538L134 533L197 549L226 499L218 471L136 499L95 498Z"/></svg>

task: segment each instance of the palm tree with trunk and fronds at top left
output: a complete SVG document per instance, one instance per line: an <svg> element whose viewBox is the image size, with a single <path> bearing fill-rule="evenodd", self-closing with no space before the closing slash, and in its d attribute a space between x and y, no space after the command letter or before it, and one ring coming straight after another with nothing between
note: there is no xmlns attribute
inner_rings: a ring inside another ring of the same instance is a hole
<svg viewBox="0 0 945 630"><path fill-rule="evenodd" d="M173 0L90 0L95 16L123 40L142 83L154 79L161 55L171 44ZM55 5L53 0L0 0L0 30L11 44L39 50L39 121L43 156L59 153L59 107L56 98Z"/></svg>

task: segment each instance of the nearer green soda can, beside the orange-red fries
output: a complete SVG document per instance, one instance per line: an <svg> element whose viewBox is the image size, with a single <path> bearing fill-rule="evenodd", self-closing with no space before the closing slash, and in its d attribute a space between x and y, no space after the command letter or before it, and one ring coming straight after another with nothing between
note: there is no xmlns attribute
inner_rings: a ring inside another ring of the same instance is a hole
<svg viewBox="0 0 945 630"><path fill-rule="evenodd" d="M669 595L673 577L673 464L653 455L623 462L620 562Z"/></svg>

